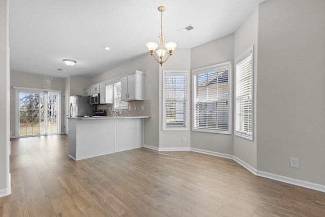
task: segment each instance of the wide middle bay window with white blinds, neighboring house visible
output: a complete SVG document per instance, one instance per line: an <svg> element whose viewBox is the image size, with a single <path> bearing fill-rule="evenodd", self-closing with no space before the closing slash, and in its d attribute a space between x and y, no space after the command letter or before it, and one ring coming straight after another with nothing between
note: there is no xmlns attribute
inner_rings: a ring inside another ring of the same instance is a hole
<svg viewBox="0 0 325 217"><path fill-rule="evenodd" d="M231 134L231 62L193 70L193 131Z"/></svg>

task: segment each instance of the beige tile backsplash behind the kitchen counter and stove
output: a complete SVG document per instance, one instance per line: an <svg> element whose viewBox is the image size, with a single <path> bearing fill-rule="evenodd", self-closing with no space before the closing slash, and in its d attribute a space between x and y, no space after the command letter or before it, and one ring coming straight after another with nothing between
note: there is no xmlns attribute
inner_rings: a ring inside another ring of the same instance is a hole
<svg viewBox="0 0 325 217"><path fill-rule="evenodd" d="M114 116L113 104L98 105L97 109L105 109L107 116ZM137 116L150 116L150 100L139 100L128 102L128 109L117 109L120 116L124 117L137 117Z"/></svg>

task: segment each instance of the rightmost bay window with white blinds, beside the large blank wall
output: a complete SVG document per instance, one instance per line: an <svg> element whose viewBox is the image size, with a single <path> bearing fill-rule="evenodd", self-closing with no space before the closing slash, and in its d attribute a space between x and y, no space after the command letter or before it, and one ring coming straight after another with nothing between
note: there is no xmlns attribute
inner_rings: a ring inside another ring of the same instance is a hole
<svg viewBox="0 0 325 217"><path fill-rule="evenodd" d="M235 135L253 140L253 46L235 60Z"/></svg>

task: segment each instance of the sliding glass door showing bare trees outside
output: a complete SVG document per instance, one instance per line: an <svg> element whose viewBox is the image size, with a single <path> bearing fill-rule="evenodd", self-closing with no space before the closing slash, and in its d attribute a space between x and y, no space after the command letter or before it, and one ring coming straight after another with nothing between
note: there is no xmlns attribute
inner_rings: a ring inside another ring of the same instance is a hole
<svg viewBox="0 0 325 217"><path fill-rule="evenodd" d="M18 91L19 137L57 134L59 94Z"/></svg>

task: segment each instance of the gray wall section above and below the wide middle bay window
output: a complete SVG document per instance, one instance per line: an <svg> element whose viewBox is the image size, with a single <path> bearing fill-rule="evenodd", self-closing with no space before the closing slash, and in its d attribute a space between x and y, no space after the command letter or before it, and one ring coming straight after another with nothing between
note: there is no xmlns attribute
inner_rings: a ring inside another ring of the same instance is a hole
<svg viewBox="0 0 325 217"><path fill-rule="evenodd" d="M234 65L234 34L191 49L191 70L226 61L232 61ZM232 74L233 71L232 67ZM233 110L231 113L233 114ZM190 135L191 148L233 154L233 135L194 131Z"/></svg>

